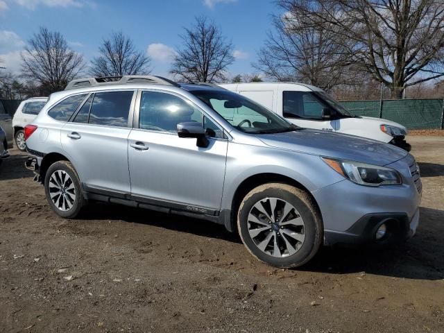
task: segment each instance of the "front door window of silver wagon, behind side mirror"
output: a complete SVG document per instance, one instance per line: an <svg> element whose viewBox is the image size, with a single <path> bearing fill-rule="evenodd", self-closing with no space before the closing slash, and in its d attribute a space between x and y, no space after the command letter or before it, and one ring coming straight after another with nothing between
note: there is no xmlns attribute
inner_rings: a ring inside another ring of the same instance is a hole
<svg viewBox="0 0 444 333"><path fill-rule="evenodd" d="M190 102L163 92L142 92L139 128L177 133L178 123L190 121L201 123L210 137L223 137L216 124Z"/></svg>

